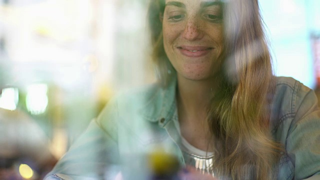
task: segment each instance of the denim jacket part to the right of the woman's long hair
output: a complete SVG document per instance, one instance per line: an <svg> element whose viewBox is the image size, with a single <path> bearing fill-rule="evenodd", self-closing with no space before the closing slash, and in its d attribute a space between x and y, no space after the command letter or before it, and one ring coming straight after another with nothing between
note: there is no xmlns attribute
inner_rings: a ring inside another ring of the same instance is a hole
<svg viewBox="0 0 320 180"><path fill-rule="evenodd" d="M311 88L294 78L277 77L276 80L271 133L286 150L280 159L278 178L294 176L304 179L319 173L320 167L317 96Z"/></svg>

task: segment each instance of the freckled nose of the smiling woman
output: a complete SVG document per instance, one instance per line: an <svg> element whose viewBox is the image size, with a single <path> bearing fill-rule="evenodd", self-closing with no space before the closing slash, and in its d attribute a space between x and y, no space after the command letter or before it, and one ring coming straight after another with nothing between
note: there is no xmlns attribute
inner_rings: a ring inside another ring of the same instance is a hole
<svg viewBox="0 0 320 180"><path fill-rule="evenodd" d="M199 21L196 18L187 20L182 36L189 41L202 38L203 32L199 26Z"/></svg>

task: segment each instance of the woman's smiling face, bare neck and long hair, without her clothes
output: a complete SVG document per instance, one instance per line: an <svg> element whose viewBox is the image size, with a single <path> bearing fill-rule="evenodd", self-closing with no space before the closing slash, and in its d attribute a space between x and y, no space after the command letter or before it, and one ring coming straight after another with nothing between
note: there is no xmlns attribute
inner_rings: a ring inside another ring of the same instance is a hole
<svg viewBox="0 0 320 180"><path fill-rule="evenodd" d="M153 5L150 12L159 13L160 20L149 15L151 29L162 29L152 31L153 59L160 69L172 64L176 71L181 136L219 153L211 165L220 175L272 178L281 148L265 128L269 108L261 108L270 106L267 94L274 80L257 1L157 0Z"/></svg>

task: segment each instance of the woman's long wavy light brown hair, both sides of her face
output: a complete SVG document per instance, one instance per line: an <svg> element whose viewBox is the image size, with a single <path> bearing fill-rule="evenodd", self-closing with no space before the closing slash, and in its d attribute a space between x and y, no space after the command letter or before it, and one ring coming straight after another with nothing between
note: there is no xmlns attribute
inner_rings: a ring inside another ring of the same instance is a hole
<svg viewBox="0 0 320 180"><path fill-rule="evenodd" d="M207 123L215 148L215 174L227 179L274 179L282 147L269 129L275 88L271 56L257 0L225 0L223 63ZM152 59L165 86L175 73L163 47L165 0L151 0L148 22ZM169 73L168 73L169 72Z"/></svg>

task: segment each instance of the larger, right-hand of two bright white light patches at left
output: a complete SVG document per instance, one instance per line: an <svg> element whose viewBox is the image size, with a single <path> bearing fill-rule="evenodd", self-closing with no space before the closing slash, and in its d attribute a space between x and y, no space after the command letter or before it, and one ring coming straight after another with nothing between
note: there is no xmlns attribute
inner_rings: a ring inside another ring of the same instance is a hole
<svg viewBox="0 0 320 180"><path fill-rule="evenodd" d="M27 87L25 103L31 114L45 112L48 104L47 89L46 84L32 84Z"/></svg>

